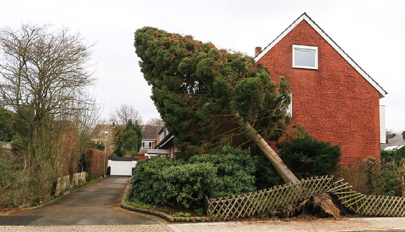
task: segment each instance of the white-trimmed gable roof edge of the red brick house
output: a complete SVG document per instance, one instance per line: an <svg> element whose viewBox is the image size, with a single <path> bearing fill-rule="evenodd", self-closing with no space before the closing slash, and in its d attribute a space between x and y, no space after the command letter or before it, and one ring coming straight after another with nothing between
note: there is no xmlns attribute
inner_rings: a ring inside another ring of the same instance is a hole
<svg viewBox="0 0 405 232"><path fill-rule="evenodd" d="M353 59L351 59L350 56L348 56L348 54L346 54L346 52L344 52L344 50L342 50L342 48L340 48L339 45L337 45L335 41L333 41L333 39L330 39L328 34L326 34L324 30L319 28L319 26L312 19L310 19L310 17L308 17L306 13L298 17L298 19L295 20L286 30L284 30L284 32L277 36L277 38L273 42L271 42L269 45L267 45L266 48L264 48L264 50L257 54L257 56L255 57L255 61L259 61L261 57L263 57L268 51L270 51L279 41L281 41L281 39L284 38L284 36L286 36L303 20L305 20L315 31L317 31L318 34L320 34L322 38L324 38L324 40L332 46L332 48L334 48L350 65L352 65L352 67L355 68L357 72L359 72L360 75L362 75L366 79L366 81L368 81L368 83L370 83L373 87L375 87L375 89L377 89L380 98L383 98L385 94L388 94L377 82L374 81L373 78L371 78L371 76L369 76L359 65L357 65L357 63L355 63L355 61L353 61Z"/></svg>

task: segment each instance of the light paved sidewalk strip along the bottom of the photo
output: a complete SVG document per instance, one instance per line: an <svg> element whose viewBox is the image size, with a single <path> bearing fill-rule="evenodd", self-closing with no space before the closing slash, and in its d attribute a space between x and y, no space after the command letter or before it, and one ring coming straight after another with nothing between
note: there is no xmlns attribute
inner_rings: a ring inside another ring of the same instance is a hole
<svg viewBox="0 0 405 232"><path fill-rule="evenodd" d="M74 226L0 226L0 231L405 231L405 218L349 218L263 222L203 222L186 224L125 224Z"/></svg>

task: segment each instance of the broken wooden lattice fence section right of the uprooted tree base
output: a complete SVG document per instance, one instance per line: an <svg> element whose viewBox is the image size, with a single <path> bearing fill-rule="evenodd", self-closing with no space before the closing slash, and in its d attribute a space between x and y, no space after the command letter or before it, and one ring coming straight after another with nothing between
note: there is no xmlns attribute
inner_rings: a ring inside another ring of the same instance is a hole
<svg viewBox="0 0 405 232"><path fill-rule="evenodd" d="M388 217L405 216L405 198L358 193L343 179L337 180L333 185L334 187L328 189L327 192L337 196L342 204L350 209L350 211L363 215Z"/></svg>

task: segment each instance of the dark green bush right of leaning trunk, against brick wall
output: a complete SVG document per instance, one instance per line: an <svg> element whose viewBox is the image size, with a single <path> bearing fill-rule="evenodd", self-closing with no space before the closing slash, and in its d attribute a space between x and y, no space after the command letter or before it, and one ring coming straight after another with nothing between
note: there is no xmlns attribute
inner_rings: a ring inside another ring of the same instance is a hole
<svg viewBox="0 0 405 232"><path fill-rule="evenodd" d="M277 143L276 147L281 159L300 178L332 174L342 155L339 145L332 146L308 134Z"/></svg>

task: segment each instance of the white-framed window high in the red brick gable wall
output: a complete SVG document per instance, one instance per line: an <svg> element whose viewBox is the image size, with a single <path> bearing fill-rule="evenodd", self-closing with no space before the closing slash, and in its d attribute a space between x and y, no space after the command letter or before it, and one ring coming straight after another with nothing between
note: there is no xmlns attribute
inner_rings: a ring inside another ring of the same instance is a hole
<svg viewBox="0 0 405 232"><path fill-rule="evenodd" d="M293 45L293 67L318 69L318 47Z"/></svg>

